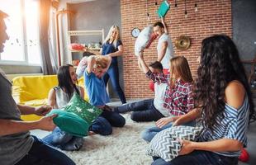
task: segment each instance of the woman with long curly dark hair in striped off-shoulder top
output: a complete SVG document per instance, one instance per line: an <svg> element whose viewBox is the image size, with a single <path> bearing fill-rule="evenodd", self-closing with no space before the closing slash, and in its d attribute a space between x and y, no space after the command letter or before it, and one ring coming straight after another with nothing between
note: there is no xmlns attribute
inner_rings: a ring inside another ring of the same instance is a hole
<svg viewBox="0 0 256 165"><path fill-rule="evenodd" d="M174 122L181 125L201 119L203 130L197 142L181 140L180 156L156 164L237 164L241 149L247 145L246 131L254 118L249 83L230 37L214 35L202 41L195 89L197 109Z"/></svg>

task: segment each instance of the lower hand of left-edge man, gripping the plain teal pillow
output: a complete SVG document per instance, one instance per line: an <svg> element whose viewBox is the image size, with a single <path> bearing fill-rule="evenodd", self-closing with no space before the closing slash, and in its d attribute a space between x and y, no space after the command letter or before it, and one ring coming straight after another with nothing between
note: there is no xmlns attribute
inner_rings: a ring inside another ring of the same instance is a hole
<svg viewBox="0 0 256 165"><path fill-rule="evenodd" d="M57 115L49 115L47 117L42 117L40 120L38 120L38 129L40 130L47 130L47 131L52 131L55 129L56 125L54 124L53 119Z"/></svg>

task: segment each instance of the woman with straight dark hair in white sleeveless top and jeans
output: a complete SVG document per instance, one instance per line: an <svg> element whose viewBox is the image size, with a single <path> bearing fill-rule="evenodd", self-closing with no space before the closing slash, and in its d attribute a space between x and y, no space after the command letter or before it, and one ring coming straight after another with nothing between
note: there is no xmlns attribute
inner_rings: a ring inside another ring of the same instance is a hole
<svg viewBox="0 0 256 165"><path fill-rule="evenodd" d="M63 108L69 103L75 92L83 98L84 90L83 87L76 85L78 79L73 65L67 64L59 67L57 78L58 86L53 87L49 92L48 104L50 106L55 109ZM56 127L43 140L63 150L78 150L83 145L83 138L68 134L60 130L59 127Z"/></svg>

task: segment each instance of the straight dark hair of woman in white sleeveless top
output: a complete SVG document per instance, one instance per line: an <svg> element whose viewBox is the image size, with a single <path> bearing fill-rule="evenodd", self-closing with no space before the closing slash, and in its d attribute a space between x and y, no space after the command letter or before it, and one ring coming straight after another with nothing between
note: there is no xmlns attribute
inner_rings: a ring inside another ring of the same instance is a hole
<svg viewBox="0 0 256 165"><path fill-rule="evenodd" d="M57 72L59 82L58 86L69 95L69 99L72 97L74 90L78 93L78 95L80 95L78 88L76 87L76 84L73 84L72 79L70 77L70 67L73 67L73 65L65 64L63 66L60 66Z"/></svg>

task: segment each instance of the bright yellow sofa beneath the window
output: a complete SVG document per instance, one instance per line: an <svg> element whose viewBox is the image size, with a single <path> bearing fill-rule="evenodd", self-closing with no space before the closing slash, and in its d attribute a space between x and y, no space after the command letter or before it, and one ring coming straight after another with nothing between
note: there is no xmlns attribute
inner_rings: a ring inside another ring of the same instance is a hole
<svg viewBox="0 0 256 165"><path fill-rule="evenodd" d="M48 92L58 85L56 75L21 76L12 79L12 97L21 105L43 106L47 104ZM78 85L84 87L83 78L78 79ZM88 95L84 93L88 101ZM21 115L22 120L38 120L38 115Z"/></svg>

